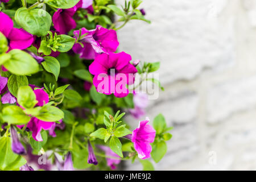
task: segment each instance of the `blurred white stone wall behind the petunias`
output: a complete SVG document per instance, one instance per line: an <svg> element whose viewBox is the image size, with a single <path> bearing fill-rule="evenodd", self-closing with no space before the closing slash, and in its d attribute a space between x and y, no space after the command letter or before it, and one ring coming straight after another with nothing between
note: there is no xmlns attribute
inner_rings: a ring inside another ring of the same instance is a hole
<svg viewBox="0 0 256 182"><path fill-rule="evenodd" d="M256 169L256 0L144 0L141 8L151 24L133 20L118 40L133 60L161 63L165 91L146 116L162 113L174 130L155 169Z"/></svg>

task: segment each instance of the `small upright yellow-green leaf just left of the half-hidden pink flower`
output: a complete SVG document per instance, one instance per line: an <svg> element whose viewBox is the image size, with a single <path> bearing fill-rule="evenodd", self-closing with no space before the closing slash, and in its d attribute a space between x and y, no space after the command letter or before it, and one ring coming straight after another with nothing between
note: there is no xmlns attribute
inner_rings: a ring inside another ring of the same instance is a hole
<svg viewBox="0 0 256 182"><path fill-rule="evenodd" d="M18 103L25 109L33 108L38 101L36 101L36 96L30 86L20 86L18 89Z"/></svg>

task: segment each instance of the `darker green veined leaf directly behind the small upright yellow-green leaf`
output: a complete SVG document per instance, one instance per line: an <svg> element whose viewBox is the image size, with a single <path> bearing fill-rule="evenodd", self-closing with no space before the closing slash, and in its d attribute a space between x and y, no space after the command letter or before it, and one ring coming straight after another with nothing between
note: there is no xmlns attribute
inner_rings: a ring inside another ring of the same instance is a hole
<svg viewBox="0 0 256 182"><path fill-rule="evenodd" d="M11 75L7 82L10 93L13 94L13 96L15 97L17 97L18 95L18 89L20 88L20 86L26 85L28 85L28 80L26 76Z"/></svg>

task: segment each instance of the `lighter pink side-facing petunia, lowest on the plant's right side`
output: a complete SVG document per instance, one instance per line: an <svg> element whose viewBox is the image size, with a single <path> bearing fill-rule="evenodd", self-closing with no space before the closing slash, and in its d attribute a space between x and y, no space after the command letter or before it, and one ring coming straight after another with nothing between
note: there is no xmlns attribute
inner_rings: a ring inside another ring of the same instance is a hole
<svg viewBox="0 0 256 182"><path fill-rule="evenodd" d="M138 152L138 157L141 159L150 158L152 147L150 143L154 142L155 130L152 126L147 125L149 119L141 121L139 127L133 130L131 142L134 143L134 148Z"/></svg>

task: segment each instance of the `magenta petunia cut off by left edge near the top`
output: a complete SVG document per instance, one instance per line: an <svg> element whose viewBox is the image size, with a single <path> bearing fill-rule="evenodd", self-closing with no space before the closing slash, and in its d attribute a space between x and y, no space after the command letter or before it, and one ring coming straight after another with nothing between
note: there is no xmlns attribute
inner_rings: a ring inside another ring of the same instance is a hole
<svg viewBox="0 0 256 182"><path fill-rule="evenodd" d="M6 36L9 49L26 49L34 42L34 36L22 28L14 28L13 20L0 12L0 32Z"/></svg>

